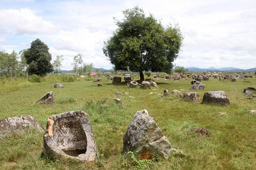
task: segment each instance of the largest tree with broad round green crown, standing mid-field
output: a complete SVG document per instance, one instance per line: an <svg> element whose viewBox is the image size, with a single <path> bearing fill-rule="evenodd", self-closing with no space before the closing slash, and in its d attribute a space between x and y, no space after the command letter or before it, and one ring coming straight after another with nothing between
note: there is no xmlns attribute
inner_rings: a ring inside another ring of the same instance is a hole
<svg viewBox="0 0 256 170"><path fill-rule="evenodd" d="M139 7L123 14L122 21L116 20L118 28L113 36L104 41L103 52L114 69L139 72L139 82L144 80L143 71L171 73L183 41L179 27L163 27Z"/></svg>

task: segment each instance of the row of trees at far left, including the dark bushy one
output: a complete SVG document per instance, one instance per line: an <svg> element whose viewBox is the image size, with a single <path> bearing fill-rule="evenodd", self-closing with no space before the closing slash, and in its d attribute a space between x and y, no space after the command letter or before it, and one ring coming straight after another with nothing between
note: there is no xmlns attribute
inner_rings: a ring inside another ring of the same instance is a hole
<svg viewBox="0 0 256 170"><path fill-rule="evenodd" d="M48 46L36 39L31 42L30 48L21 50L19 54L15 50L11 54L0 52L0 76L5 78L33 74L45 76L53 71L53 67L60 73L63 55L56 56L53 64L51 59Z"/></svg>

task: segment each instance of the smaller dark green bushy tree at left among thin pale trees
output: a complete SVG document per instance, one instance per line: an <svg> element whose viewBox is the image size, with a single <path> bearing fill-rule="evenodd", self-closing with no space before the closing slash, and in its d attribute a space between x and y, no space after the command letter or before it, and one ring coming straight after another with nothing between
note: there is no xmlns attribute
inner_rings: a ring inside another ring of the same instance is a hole
<svg viewBox="0 0 256 170"><path fill-rule="evenodd" d="M39 39L31 42L31 46L24 52L28 66L28 74L44 76L53 71L52 55L49 48Z"/></svg>

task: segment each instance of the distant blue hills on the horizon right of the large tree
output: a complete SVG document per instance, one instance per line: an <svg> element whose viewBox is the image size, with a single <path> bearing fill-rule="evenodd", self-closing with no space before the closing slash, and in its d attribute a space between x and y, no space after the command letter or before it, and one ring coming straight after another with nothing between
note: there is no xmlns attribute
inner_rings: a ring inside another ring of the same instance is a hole
<svg viewBox="0 0 256 170"><path fill-rule="evenodd" d="M198 67L186 67L185 69L188 69L188 71L193 71L193 72L205 72L205 71L209 71L209 70L212 70L212 71L256 71L256 67L255 68L251 68L251 69L246 69L246 70L243 70L243 69L239 69L239 68L236 68L236 67L222 67L220 69L217 69L215 67L209 67L207 69L200 69Z"/></svg>

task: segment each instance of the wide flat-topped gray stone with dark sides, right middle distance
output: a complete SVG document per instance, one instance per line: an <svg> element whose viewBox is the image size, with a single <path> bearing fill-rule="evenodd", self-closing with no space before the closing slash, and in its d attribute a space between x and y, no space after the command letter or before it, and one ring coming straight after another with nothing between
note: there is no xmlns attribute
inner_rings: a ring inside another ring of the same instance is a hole
<svg viewBox="0 0 256 170"><path fill-rule="evenodd" d="M230 105L224 91L207 91L203 97L203 104Z"/></svg>

